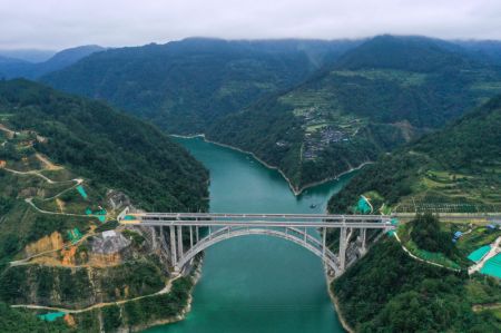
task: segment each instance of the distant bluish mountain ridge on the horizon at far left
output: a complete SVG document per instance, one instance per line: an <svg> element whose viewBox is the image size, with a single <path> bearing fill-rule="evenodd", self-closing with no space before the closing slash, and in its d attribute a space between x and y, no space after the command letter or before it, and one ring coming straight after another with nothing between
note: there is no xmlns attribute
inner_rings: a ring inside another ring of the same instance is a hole
<svg viewBox="0 0 501 333"><path fill-rule="evenodd" d="M42 62L30 62L16 58L9 58L10 61L2 61L2 57L0 57L0 78L36 79L48 72L70 66L71 63L101 50L105 50L105 48L99 46L70 48L53 55L50 59Z"/></svg>

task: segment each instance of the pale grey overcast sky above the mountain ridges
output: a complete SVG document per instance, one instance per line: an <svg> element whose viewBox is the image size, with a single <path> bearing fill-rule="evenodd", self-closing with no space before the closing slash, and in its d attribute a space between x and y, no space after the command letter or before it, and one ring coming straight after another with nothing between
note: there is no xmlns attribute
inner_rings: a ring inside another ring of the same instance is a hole
<svg viewBox="0 0 501 333"><path fill-rule="evenodd" d="M0 49L379 33L501 39L501 0L0 0Z"/></svg>

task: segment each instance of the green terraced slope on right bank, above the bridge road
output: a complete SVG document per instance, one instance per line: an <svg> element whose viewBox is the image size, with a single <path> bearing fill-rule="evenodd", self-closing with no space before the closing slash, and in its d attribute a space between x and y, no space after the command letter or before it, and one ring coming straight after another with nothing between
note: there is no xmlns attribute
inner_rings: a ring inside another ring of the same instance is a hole
<svg viewBox="0 0 501 333"><path fill-rule="evenodd" d="M382 156L333 196L328 207L348 212L361 194L369 194L379 205L394 208L471 204L497 205L499 209L500 128L498 96L445 128Z"/></svg>

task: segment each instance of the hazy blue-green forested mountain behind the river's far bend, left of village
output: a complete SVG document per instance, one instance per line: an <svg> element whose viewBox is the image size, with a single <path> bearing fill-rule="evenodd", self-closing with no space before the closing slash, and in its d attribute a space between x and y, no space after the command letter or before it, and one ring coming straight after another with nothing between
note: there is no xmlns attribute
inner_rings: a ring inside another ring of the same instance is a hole
<svg viewBox="0 0 501 333"><path fill-rule="evenodd" d="M190 38L91 55L42 81L106 99L175 134L298 84L360 41Z"/></svg>

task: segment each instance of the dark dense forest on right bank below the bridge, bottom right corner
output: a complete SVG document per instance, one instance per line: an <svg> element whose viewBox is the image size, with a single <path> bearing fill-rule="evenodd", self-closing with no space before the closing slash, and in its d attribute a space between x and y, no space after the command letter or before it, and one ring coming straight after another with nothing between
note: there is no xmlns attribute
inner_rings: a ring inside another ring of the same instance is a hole
<svg viewBox="0 0 501 333"><path fill-rule="evenodd" d="M426 265L383 238L332 288L356 332L499 332L490 311L474 303L499 300L499 281ZM483 295L483 296L480 296Z"/></svg>

